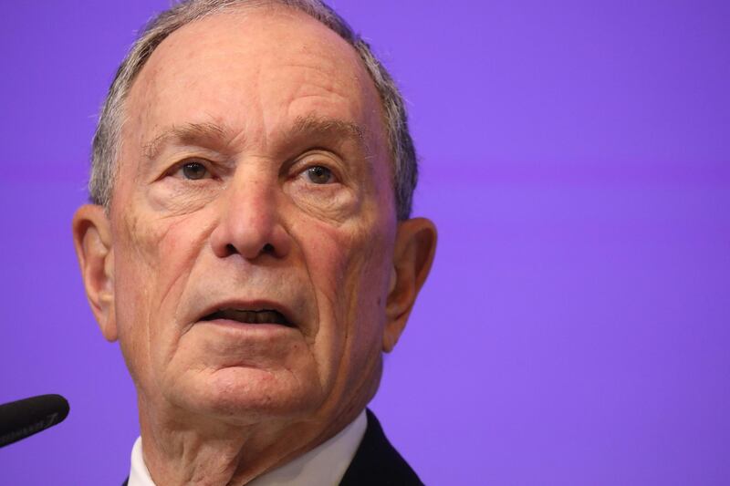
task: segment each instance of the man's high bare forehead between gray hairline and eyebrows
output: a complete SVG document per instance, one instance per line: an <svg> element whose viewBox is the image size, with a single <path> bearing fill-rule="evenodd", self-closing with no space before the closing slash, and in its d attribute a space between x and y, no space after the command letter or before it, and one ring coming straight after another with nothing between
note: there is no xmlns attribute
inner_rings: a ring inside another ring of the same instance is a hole
<svg viewBox="0 0 730 486"><path fill-rule="evenodd" d="M384 138L380 99L354 48L286 7L225 12L173 32L142 68L125 112L123 136L141 145L183 123L266 140L312 115Z"/></svg>

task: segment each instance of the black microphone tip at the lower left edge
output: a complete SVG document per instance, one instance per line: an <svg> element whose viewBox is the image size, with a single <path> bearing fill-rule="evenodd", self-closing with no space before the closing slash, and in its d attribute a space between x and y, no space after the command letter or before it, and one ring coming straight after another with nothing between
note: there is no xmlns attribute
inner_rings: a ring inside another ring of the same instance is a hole
<svg viewBox="0 0 730 486"><path fill-rule="evenodd" d="M39 395L0 405L0 447L53 427L67 415L68 401L60 395Z"/></svg>

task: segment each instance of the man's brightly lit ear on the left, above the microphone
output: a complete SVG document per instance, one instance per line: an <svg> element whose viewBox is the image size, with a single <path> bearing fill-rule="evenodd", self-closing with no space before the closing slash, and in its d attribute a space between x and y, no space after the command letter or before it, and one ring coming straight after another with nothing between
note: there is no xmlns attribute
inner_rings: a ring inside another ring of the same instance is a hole
<svg viewBox="0 0 730 486"><path fill-rule="evenodd" d="M111 248L109 217L104 208L86 204L73 219L74 246L81 267L86 295L101 333L116 341L114 313L114 253Z"/></svg>

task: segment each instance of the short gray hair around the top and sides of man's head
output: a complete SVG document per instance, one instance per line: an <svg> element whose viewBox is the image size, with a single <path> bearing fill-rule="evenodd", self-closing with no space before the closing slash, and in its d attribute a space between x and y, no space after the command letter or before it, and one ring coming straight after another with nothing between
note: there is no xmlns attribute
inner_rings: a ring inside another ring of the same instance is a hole
<svg viewBox="0 0 730 486"><path fill-rule="evenodd" d="M393 187L396 215L406 220L411 215L413 191L418 179L418 163L408 116L401 93L390 73L373 54L367 42L331 7L320 0L185 0L154 17L122 61L99 117L91 154L89 195L91 202L107 209L118 171L116 159L120 151L121 126L124 123L124 101L134 79L152 52L175 30L193 21L236 6L286 5L296 8L328 26L354 47L378 89L393 161Z"/></svg>

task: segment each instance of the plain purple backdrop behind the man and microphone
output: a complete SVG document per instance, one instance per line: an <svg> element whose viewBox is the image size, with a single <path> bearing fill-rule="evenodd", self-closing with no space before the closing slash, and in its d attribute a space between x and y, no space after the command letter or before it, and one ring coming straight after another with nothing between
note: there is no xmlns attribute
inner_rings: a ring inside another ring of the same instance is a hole
<svg viewBox="0 0 730 486"><path fill-rule="evenodd" d="M433 274L372 408L429 484L730 484L730 3L338 0L410 103ZM165 0L3 2L3 484L118 484L134 390L70 236ZM446 6L449 5L449 6Z"/></svg>

